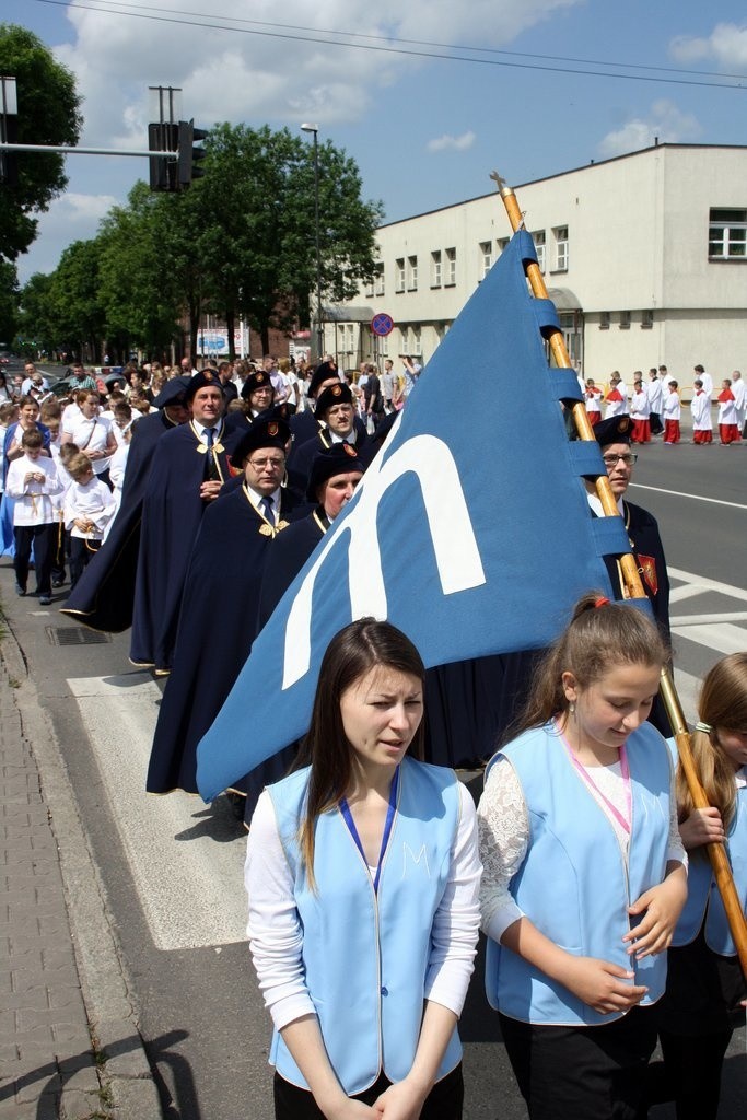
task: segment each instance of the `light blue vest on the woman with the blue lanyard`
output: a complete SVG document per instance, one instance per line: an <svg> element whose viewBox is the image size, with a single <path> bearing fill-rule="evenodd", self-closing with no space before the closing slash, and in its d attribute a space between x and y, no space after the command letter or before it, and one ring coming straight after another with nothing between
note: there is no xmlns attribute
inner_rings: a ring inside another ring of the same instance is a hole
<svg viewBox="0 0 747 1120"><path fill-rule="evenodd" d="M459 788L450 769L402 760L377 895L339 810L323 813L315 833L315 894L298 847L307 781L308 769L299 771L269 792L295 879L306 986L329 1061L352 1095L372 1085L382 1071L396 1082L412 1066L433 915L448 883L459 823ZM438 1080L460 1058L455 1029ZM287 1081L308 1089L278 1032L270 1062Z"/></svg>

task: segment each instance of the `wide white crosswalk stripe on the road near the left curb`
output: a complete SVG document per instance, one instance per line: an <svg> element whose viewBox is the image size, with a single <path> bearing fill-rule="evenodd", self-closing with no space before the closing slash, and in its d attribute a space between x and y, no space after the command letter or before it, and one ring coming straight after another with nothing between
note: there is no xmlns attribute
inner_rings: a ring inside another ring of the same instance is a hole
<svg viewBox="0 0 747 1120"><path fill-rule="evenodd" d="M244 941L244 843L206 834L202 819L212 810L199 797L146 793L158 687L141 672L72 678L67 685L96 753L153 943L175 950Z"/></svg>

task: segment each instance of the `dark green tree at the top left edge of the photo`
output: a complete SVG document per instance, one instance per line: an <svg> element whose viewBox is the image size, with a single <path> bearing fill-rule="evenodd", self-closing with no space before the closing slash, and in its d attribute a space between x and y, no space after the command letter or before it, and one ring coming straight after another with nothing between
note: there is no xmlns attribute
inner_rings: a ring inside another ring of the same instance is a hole
<svg viewBox="0 0 747 1120"><path fill-rule="evenodd" d="M75 144L83 118L75 77L25 27L0 24L0 74L16 78L18 143ZM36 237L34 214L67 185L64 157L18 152L18 181L0 183L0 258L15 261Z"/></svg>

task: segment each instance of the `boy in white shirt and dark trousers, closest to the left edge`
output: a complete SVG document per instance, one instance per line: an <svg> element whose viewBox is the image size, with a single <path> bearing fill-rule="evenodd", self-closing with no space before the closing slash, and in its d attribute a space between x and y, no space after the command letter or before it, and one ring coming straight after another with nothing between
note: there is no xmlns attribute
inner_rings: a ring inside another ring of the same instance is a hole
<svg viewBox="0 0 747 1120"><path fill-rule="evenodd" d="M21 437L22 455L8 467L6 492L16 500L13 539L16 554L16 594L26 595L29 560L34 548L34 569L39 603L52 603L52 564L57 535L53 495L62 489L54 463L43 457L44 437L36 429Z"/></svg>

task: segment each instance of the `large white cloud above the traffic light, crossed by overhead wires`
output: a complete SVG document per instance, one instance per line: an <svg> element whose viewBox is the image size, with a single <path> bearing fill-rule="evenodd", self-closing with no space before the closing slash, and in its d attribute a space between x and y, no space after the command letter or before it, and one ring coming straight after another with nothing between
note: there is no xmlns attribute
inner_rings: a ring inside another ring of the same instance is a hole
<svg viewBox="0 0 747 1120"><path fill-rule="evenodd" d="M349 123L371 108L377 88L396 84L428 59L330 46L330 39L344 39L330 28L370 36L358 41L372 47L384 47L386 37L396 36L496 48L582 2L471 0L457 6L452 0L411 0L403 7L401 0L375 6L368 0L317 0L314 6L286 0L279 9L277 0L255 0L251 7L245 0L221 0L220 15L211 16L205 15L209 6L197 0L160 0L161 19L71 7L75 41L58 47L56 55L75 73L85 99L84 141L132 147L142 142L149 119L149 85L183 88L184 115L206 127L215 121L277 125L311 114L323 125ZM186 17L192 22L178 21L177 13L185 12L195 13ZM233 29L220 29L216 22ZM244 34L248 29L256 34Z"/></svg>

